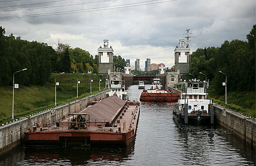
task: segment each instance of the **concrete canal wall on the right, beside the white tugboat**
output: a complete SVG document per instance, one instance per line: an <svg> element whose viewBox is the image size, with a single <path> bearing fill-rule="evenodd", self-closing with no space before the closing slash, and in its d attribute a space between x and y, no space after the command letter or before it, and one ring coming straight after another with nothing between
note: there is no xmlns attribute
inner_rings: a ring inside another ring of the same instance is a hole
<svg viewBox="0 0 256 166"><path fill-rule="evenodd" d="M169 87L168 87L169 88ZM169 88L171 92L180 92ZM233 132L238 138L256 147L256 119L214 103L215 123Z"/></svg>

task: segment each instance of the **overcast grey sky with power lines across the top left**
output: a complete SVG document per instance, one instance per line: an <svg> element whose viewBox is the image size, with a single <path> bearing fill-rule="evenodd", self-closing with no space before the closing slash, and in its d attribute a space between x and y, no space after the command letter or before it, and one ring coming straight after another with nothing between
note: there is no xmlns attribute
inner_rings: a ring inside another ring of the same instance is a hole
<svg viewBox="0 0 256 166"><path fill-rule="evenodd" d="M6 28L6 35L12 33L25 40L48 43L54 48L60 39L63 43L85 49L92 55L98 54L97 48L103 45L103 39L108 39L114 55L130 59L131 65L134 65L136 58L140 58L142 69L147 57L151 59L151 63L174 65L174 48L179 39L185 37L183 34L186 29L191 29L190 32L193 33L190 35L192 53L197 48L220 46L225 40L246 40L246 34L256 21L255 0L0 1L0 18L53 12L58 14L0 19L0 26ZM31 3L40 4L26 5ZM124 5L128 3L130 5ZM154 4L144 5L148 3ZM58 13L70 10L79 13Z"/></svg>

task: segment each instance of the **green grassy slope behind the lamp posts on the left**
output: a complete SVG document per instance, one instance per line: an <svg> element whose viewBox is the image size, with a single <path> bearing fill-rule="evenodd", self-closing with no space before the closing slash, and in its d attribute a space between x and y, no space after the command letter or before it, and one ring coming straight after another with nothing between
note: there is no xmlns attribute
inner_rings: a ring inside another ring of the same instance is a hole
<svg viewBox="0 0 256 166"><path fill-rule="evenodd" d="M40 85L20 85L14 92L14 118L20 118L31 113L43 111L55 106L54 79L59 82L57 86L57 105L74 101L77 96L77 77L80 74L51 74L49 82ZM79 76L79 98L90 94L90 80L92 92L99 92L99 79L101 90L105 89L105 77L100 78L97 74L84 74ZM0 124L10 121L12 113L12 87L0 86Z"/></svg>

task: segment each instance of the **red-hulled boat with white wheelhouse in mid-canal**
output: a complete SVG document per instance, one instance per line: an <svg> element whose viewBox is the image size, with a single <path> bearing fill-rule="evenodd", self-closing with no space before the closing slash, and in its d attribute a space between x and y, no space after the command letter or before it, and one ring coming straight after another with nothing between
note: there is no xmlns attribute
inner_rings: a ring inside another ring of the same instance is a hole
<svg viewBox="0 0 256 166"><path fill-rule="evenodd" d="M156 102L175 102L178 101L179 93L172 93L169 90L161 89L162 85L159 78L154 78L151 89L143 90L140 95L140 101L156 101Z"/></svg>

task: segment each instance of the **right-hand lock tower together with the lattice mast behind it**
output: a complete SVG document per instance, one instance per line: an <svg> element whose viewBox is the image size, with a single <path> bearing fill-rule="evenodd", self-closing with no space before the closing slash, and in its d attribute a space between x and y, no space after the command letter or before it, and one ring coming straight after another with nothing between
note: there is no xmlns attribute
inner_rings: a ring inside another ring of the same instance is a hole
<svg viewBox="0 0 256 166"><path fill-rule="evenodd" d="M179 72L180 74L188 74L189 73L189 65L190 65L190 47L189 47L189 33L190 29L187 29L187 40L180 39L178 46L174 49L175 56L175 72Z"/></svg>

